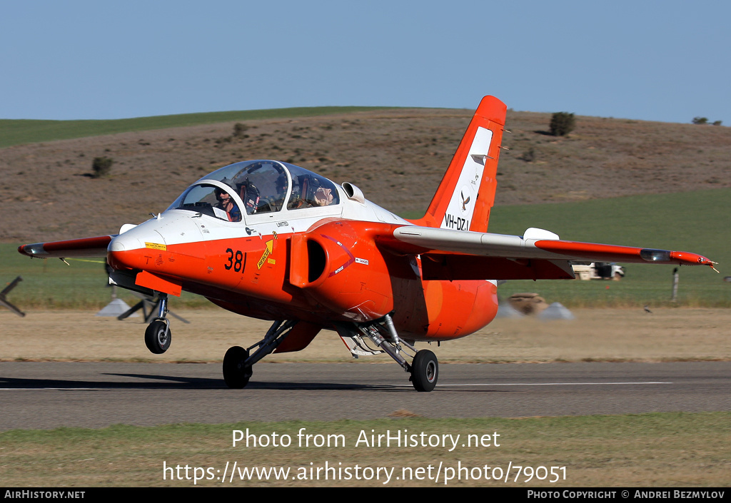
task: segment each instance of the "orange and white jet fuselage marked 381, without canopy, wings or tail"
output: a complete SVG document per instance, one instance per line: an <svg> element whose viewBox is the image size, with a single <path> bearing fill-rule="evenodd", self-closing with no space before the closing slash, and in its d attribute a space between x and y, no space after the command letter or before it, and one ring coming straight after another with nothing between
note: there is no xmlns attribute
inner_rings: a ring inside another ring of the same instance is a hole
<svg viewBox="0 0 731 503"><path fill-rule="evenodd" d="M185 290L260 319L327 328L393 312L398 333L413 340L455 339L492 321L494 281L423 281L420 257L382 251L377 243L409 222L341 196L339 208L255 214L244 222L168 209L113 238L107 260L136 275L138 287L170 295ZM342 219L343 213L372 221Z"/></svg>

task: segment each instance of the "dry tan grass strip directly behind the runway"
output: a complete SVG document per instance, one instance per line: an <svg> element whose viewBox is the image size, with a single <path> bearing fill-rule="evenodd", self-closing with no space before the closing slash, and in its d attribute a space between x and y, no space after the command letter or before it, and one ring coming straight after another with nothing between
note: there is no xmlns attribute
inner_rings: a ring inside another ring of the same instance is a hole
<svg viewBox="0 0 731 503"><path fill-rule="evenodd" d="M173 344L163 355L145 348L142 318L118 321L94 311L0 311L0 360L221 361L234 345L259 341L269 323L220 309L181 311ZM479 332L431 348L443 363L549 361L729 360L728 309L576 309L571 321L498 318ZM420 343L419 347L424 347ZM387 356L353 360L336 333L324 331L281 361L393 364Z"/></svg>

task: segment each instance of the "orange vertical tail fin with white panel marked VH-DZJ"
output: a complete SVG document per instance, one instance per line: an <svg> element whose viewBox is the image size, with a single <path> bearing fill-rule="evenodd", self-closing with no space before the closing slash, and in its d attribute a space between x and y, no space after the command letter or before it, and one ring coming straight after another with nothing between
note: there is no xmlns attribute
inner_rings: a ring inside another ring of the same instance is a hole
<svg viewBox="0 0 731 503"><path fill-rule="evenodd" d="M482 98L426 214L414 224L488 230L506 111L505 104L496 97Z"/></svg>

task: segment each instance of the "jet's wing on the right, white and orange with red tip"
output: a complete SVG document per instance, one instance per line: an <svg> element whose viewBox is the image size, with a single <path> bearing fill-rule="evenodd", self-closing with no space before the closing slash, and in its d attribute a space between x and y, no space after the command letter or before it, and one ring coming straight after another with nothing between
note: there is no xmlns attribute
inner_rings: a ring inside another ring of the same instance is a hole
<svg viewBox="0 0 731 503"><path fill-rule="evenodd" d="M524 235L402 226L381 240L394 252L418 253L423 279L571 279L571 262L710 265L690 252L561 241L530 228Z"/></svg>

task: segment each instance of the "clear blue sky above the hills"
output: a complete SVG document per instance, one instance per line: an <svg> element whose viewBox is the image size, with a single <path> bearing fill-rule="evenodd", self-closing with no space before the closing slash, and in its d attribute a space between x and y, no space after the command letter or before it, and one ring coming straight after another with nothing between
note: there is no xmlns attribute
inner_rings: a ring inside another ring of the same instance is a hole
<svg viewBox="0 0 731 503"><path fill-rule="evenodd" d="M728 1L0 0L0 118L319 105L731 125Z"/></svg>

